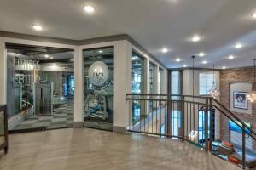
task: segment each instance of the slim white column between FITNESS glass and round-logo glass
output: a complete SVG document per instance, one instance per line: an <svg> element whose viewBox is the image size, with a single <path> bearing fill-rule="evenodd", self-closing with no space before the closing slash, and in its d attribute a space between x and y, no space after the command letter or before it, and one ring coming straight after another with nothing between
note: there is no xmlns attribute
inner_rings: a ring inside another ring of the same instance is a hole
<svg viewBox="0 0 256 170"><path fill-rule="evenodd" d="M82 48L74 50L74 127L84 127L84 58Z"/></svg>

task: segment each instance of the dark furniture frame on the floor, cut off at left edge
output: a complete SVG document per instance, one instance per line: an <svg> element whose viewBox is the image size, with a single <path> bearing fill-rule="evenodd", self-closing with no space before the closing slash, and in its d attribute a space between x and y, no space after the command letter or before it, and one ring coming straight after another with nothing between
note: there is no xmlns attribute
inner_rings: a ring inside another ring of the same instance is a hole
<svg viewBox="0 0 256 170"><path fill-rule="evenodd" d="M8 120L7 120L7 107L0 105L0 150L8 151Z"/></svg>

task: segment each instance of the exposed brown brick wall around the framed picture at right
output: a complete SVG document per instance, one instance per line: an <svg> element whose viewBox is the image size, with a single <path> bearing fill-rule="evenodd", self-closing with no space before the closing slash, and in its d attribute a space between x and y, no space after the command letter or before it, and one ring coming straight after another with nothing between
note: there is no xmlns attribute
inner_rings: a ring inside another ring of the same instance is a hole
<svg viewBox="0 0 256 170"><path fill-rule="evenodd" d="M232 82L253 82L253 68L229 69L220 71L220 102L230 108L230 83ZM253 128L256 127L256 104L252 105L252 114L233 112L244 122L250 122ZM220 138L229 141L229 121L220 116ZM256 143L253 143L253 149L256 150Z"/></svg>

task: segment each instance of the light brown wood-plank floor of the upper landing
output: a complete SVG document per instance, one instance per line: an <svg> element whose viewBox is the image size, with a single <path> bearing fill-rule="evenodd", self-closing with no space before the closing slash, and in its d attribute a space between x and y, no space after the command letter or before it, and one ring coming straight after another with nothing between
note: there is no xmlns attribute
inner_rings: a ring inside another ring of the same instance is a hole
<svg viewBox="0 0 256 170"><path fill-rule="evenodd" d="M9 135L1 170L236 170L194 146L139 134L60 129Z"/></svg>

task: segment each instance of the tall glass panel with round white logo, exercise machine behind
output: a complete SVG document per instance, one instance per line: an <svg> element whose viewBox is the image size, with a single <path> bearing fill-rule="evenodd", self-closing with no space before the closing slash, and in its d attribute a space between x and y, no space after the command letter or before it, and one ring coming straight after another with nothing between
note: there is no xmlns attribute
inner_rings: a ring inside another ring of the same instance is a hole
<svg viewBox="0 0 256 170"><path fill-rule="evenodd" d="M113 47L84 49L84 127L113 130Z"/></svg>

